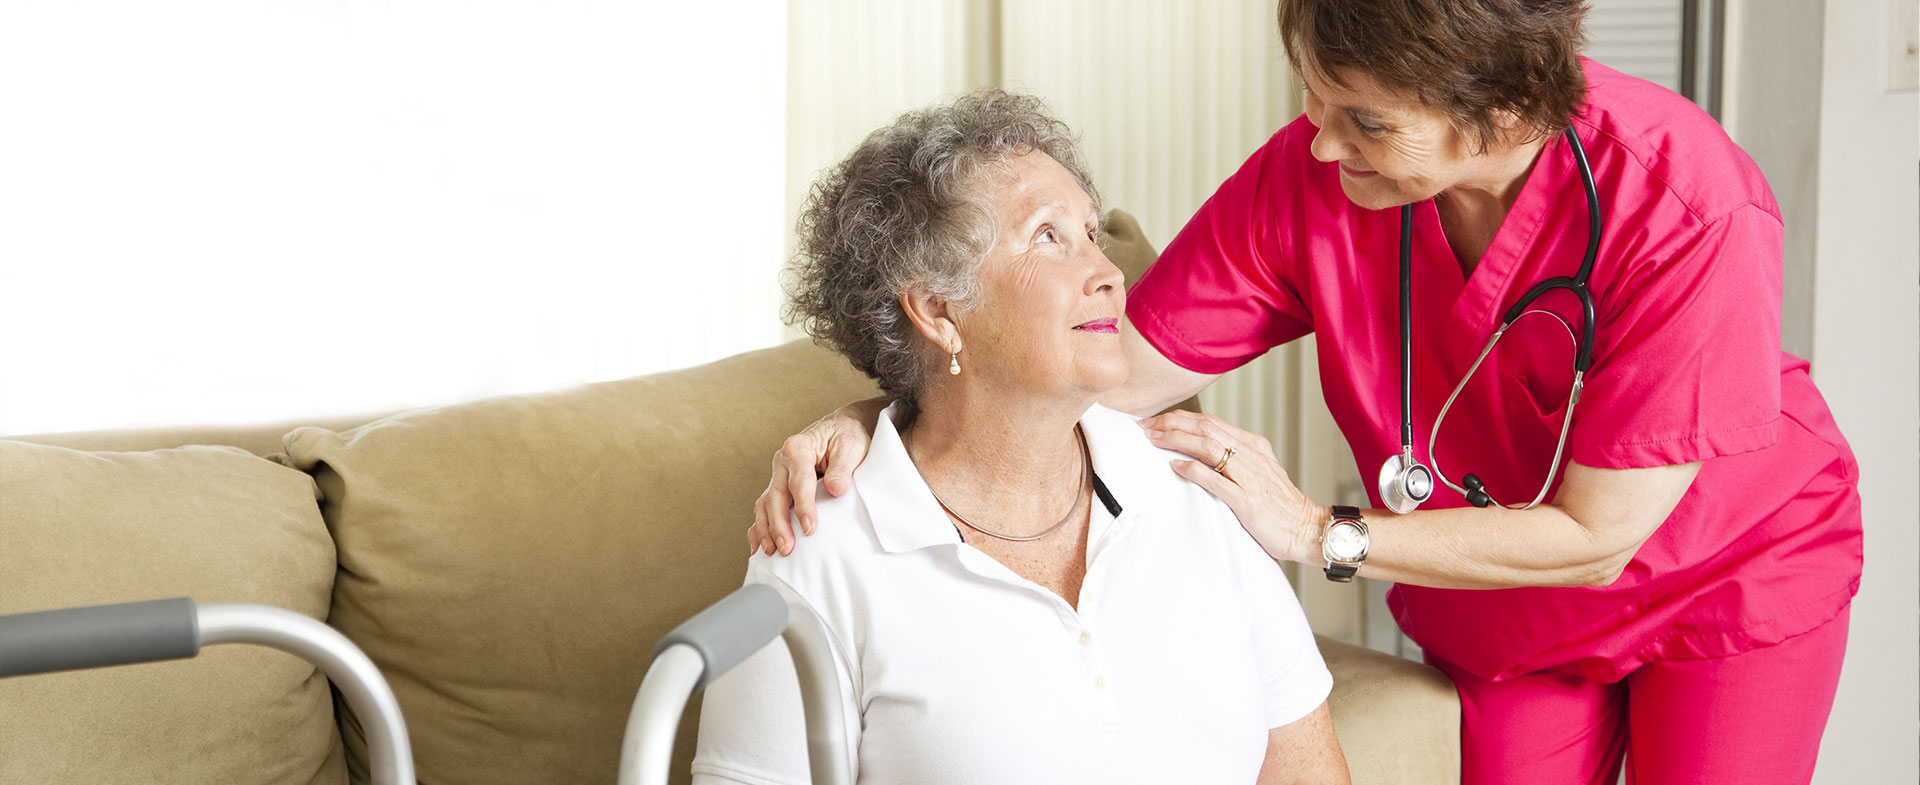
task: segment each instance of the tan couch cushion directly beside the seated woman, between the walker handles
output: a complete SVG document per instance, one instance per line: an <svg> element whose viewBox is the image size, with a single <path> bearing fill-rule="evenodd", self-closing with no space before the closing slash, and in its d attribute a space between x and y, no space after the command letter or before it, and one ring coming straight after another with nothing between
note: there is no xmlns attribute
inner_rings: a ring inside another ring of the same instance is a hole
<svg viewBox="0 0 1920 785"><path fill-rule="evenodd" d="M741 583L774 449L874 393L793 342L288 434L340 547L330 622L394 683L420 781L611 783L653 645Z"/></svg>

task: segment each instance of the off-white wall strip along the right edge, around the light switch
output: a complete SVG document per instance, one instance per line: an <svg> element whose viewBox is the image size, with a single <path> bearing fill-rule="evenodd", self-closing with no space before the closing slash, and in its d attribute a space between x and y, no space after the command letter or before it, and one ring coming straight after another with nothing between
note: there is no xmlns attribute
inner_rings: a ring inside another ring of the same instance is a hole
<svg viewBox="0 0 1920 785"><path fill-rule="evenodd" d="M1893 4L1826 4L1812 370L1860 459L1866 574L1818 783L1920 781L1920 111L1885 90Z"/></svg>

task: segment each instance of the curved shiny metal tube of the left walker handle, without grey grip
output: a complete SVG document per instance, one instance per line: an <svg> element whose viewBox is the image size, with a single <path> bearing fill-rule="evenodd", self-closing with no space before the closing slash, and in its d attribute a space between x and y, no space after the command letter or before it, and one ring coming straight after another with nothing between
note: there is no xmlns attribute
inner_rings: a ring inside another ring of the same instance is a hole
<svg viewBox="0 0 1920 785"><path fill-rule="evenodd" d="M413 747L399 701L380 668L338 630L269 605L202 605L200 643L253 643L317 664L367 731L372 783L413 785Z"/></svg>

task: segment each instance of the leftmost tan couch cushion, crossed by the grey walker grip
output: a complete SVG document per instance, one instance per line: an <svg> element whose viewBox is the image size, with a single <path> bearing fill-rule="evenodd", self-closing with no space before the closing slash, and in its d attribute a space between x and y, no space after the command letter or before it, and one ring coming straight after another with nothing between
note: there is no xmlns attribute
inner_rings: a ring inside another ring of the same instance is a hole
<svg viewBox="0 0 1920 785"><path fill-rule="evenodd" d="M326 618L313 480L232 447L0 441L0 614L161 597ZM271 649L0 681L10 783L344 783L326 678Z"/></svg>

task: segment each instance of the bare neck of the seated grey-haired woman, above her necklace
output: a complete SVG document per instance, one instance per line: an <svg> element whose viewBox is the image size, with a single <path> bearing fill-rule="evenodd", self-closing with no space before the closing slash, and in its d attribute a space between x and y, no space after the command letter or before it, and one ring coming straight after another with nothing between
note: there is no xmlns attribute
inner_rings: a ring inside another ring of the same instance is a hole
<svg viewBox="0 0 1920 785"><path fill-rule="evenodd" d="M1006 401L948 384L922 397L910 453L933 491L970 520L1039 530L1081 489L1085 466L1073 426L1091 405Z"/></svg>

